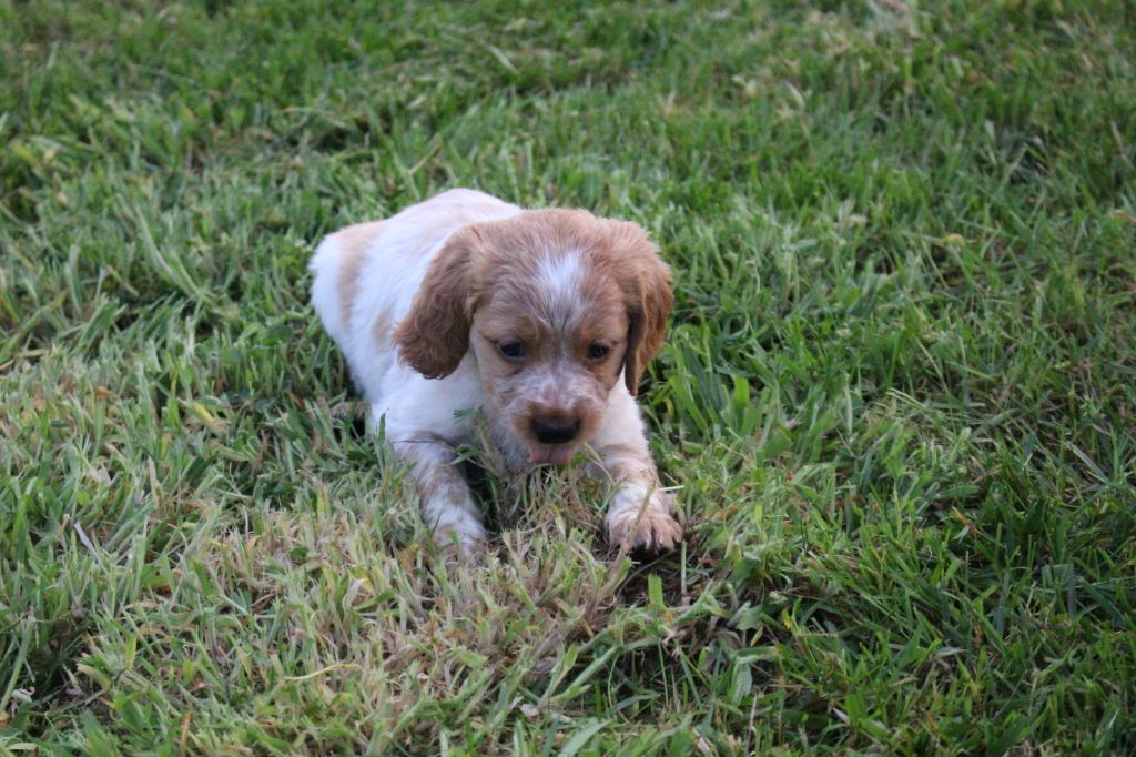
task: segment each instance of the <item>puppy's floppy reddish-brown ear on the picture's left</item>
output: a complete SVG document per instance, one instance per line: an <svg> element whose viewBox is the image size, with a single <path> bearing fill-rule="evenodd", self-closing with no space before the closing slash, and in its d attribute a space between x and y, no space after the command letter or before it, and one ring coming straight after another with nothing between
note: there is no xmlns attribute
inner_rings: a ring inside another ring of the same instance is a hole
<svg viewBox="0 0 1136 757"><path fill-rule="evenodd" d="M454 232L431 261L410 313L394 330L399 357L427 378L457 371L469 350L479 256L475 226Z"/></svg>

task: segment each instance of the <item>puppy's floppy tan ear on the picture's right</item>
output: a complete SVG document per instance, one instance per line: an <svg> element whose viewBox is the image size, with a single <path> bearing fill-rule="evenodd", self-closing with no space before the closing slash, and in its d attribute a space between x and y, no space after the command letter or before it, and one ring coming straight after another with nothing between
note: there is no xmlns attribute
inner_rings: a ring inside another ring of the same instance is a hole
<svg viewBox="0 0 1136 757"><path fill-rule="evenodd" d="M667 316L675 303L670 293L670 268L658 248L636 224L618 223L616 236L623 248L619 253L623 289L627 297L627 353L624 357L624 381L632 397L638 393L643 371L659 349L667 332Z"/></svg>

